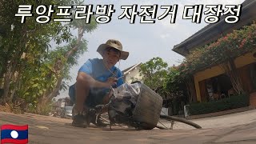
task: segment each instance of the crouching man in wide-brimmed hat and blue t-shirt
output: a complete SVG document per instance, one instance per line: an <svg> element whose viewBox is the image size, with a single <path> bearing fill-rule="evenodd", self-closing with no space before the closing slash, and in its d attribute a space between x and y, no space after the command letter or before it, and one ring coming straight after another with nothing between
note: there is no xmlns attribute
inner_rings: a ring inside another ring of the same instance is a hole
<svg viewBox="0 0 256 144"><path fill-rule="evenodd" d="M86 127L91 108L109 102L111 87L123 84L122 71L114 66L120 59L126 60L129 52L122 51L118 40L110 39L98 46L102 59L89 59L78 70L77 82L70 86L70 100L74 102L72 125ZM86 113L86 114L85 114Z"/></svg>

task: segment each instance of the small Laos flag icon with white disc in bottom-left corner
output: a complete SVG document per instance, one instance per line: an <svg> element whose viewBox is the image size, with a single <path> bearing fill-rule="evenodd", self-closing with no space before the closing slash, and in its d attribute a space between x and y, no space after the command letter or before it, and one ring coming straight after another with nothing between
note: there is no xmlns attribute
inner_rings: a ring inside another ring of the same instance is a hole
<svg viewBox="0 0 256 144"><path fill-rule="evenodd" d="M28 125L2 125L1 126L1 144L3 143L28 143Z"/></svg>

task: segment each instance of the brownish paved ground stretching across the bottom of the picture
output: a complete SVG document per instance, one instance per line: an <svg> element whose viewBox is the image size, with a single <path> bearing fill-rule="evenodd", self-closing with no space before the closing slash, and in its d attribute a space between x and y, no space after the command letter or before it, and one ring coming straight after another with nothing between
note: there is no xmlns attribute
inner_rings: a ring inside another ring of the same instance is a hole
<svg viewBox="0 0 256 144"><path fill-rule="evenodd" d="M76 128L70 119L0 112L0 125L29 125L30 143L256 143L256 110L196 119L203 127L174 124L174 130L134 130L126 127Z"/></svg>

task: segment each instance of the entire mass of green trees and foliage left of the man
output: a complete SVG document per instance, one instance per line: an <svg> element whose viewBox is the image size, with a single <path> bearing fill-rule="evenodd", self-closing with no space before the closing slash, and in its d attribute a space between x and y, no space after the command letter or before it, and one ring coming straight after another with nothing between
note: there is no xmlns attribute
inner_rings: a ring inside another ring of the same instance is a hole
<svg viewBox="0 0 256 144"><path fill-rule="evenodd" d="M90 24L86 24L84 20L38 24L35 21L38 17L35 9L32 17L26 17L26 22L20 23L21 18L14 15L18 11L18 5L24 3L33 4L34 8L42 4L54 5L54 10L57 10L55 6L79 5L82 1L0 2L0 7L3 7L0 10L0 78L5 75L3 98L9 98L9 102L13 98L24 98L27 103L39 108L42 98L48 103L59 90L65 90L66 85L62 79L70 78L70 67L78 63L79 56L87 49L86 40L82 36L96 29L97 24L94 18ZM74 13L70 17L74 17ZM51 18L59 16L54 13ZM71 29L78 30L78 37L73 36ZM50 43L62 46L52 49ZM51 94L53 91L56 93Z"/></svg>

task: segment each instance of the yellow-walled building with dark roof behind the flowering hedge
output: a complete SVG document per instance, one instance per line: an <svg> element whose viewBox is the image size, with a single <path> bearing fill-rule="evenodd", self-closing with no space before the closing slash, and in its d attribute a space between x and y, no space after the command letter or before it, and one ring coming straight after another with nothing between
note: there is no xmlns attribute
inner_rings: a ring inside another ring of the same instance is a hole
<svg viewBox="0 0 256 144"><path fill-rule="evenodd" d="M255 9L256 1L246 0L242 3L240 20L237 23L226 23L225 17L222 16L219 22L205 26L190 38L174 46L174 52L187 57L196 48L216 42L218 38L222 38L233 30L239 30L242 26L250 25L256 20ZM226 97L232 92L233 87L230 78L227 77L220 64L205 66L194 72L194 91L198 102L207 102L211 96L217 99L222 98L222 95ZM243 89L250 94L250 105L256 106L256 46L254 51L234 58L234 66L238 70ZM222 92L214 94L214 89Z"/></svg>

